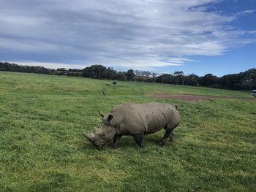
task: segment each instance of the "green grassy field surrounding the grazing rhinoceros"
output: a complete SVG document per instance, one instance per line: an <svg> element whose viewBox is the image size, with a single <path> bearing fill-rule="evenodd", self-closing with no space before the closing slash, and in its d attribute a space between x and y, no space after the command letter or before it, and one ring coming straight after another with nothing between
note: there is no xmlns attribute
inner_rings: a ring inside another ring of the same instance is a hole
<svg viewBox="0 0 256 192"><path fill-rule="evenodd" d="M241 91L0 72L0 191L255 191L256 101L190 102L151 93L251 97ZM102 95L105 88L106 96ZM123 137L95 149L80 134L126 101L178 104L176 144Z"/></svg>

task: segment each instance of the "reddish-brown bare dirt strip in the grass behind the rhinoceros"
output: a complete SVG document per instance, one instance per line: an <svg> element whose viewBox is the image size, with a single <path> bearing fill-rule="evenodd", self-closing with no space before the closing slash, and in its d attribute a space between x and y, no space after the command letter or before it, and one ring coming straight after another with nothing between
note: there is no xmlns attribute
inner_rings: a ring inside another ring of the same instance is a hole
<svg viewBox="0 0 256 192"><path fill-rule="evenodd" d="M154 98L173 98L182 99L186 101L199 101L208 100L213 101L214 99L241 99L241 100L255 100L256 98L239 98L239 97L224 97L224 96L198 96L198 95L188 95L188 94L174 94L174 93L154 93L151 96Z"/></svg>

